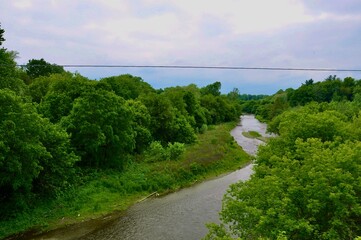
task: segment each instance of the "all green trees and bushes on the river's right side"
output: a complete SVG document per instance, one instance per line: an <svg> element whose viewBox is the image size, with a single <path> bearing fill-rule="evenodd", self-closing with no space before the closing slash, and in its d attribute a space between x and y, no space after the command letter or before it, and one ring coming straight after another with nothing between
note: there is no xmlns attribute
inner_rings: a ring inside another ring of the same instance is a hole
<svg viewBox="0 0 361 240"><path fill-rule="evenodd" d="M278 137L260 147L251 179L230 187L205 239L361 235L360 83L306 81L253 104Z"/></svg>

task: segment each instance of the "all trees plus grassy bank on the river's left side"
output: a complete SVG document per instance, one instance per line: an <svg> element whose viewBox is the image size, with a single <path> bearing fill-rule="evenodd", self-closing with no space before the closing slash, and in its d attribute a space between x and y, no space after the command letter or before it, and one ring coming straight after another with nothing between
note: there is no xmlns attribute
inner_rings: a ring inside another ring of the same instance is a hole
<svg viewBox="0 0 361 240"><path fill-rule="evenodd" d="M0 238L126 209L250 160L229 135L240 102L220 82L154 89L44 59L17 66L17 54L0 49Z"/></svg>

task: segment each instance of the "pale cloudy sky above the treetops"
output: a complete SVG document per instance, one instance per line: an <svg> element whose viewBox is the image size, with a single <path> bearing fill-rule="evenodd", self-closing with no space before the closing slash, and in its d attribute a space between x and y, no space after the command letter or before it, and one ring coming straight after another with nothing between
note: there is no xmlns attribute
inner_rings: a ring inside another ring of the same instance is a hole
<svg viewBox="0 0 361 240"><path fill-rule="evenodd" d="M193 65L361 69L359 0L0 0L16 61L59 65ZM361 72L66 68L90 79L132 74L154 88L274 94Z"/></svg>

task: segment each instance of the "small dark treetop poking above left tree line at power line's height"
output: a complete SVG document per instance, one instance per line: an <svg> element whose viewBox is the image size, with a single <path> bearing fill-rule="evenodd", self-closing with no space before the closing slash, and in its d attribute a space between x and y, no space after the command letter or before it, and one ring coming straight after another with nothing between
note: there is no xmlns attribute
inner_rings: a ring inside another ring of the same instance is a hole
<svg viewBox="0 0 361 240"><path fill-rule="evenodd" d="M54 73L64 73L65 70L62 66L56 64L50 64L43 58L31 59L25 66L26 73L31 79L35 79L40 76L49 76Z"/></svg>

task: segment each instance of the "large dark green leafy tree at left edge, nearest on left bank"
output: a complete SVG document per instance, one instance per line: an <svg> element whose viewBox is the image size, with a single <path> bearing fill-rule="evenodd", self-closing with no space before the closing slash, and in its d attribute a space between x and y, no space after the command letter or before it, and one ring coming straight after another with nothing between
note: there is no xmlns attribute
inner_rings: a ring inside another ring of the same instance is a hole
<svg viewBox="0 0 361 240"><path fill-rule="evenodd" d="M0 212L6 212L26 207L34 193L63 187L78 158L68 134L15 92L0 90L0 109Z"/></svg>

